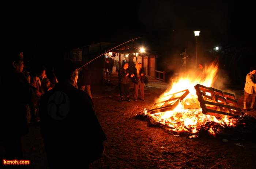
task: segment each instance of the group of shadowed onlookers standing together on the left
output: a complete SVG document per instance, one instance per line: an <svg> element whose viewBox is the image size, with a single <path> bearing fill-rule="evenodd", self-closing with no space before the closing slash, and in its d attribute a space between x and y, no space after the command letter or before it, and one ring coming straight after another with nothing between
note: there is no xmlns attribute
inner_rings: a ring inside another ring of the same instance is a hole
<svg viewBox="0 0 256 169"><path fill-rule="evenodd" d="M42 65L29 73L23 71L22 51L8 51L3 62L0 142L5 160L25 160L22 138L29 133L30 122L40 125L50 168L89 168L103 156L106 136L95 113L89 70L78 75L80 65L59 60L49 73Z"/></svg>

